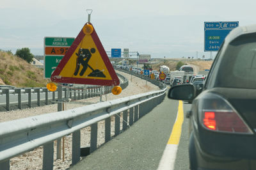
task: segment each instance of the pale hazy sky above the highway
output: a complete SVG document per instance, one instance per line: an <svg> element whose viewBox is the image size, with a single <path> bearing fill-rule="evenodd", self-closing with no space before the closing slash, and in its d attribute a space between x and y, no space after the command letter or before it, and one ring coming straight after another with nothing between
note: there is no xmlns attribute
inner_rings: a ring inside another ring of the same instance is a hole
<svg viewBox="0 0 256 170"><path fill-rule="evenodd" d="M204 22L256 24L255 0L0 0L0 49L44 55L45 36L76 37L91 22L104 49L152 58L210 58ZM216 52L212 52L214 56Z"/></svg>

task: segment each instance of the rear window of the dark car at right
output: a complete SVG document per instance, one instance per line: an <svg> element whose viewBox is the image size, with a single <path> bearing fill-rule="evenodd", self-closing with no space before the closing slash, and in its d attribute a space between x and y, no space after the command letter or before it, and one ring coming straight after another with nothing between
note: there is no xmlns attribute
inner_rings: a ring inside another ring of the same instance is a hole
<svg viewBox="0 0 256 170"><path fill-rule="evenodd" d="M218 86L256 89L256 34L233 40L220 62Z"/></svg>

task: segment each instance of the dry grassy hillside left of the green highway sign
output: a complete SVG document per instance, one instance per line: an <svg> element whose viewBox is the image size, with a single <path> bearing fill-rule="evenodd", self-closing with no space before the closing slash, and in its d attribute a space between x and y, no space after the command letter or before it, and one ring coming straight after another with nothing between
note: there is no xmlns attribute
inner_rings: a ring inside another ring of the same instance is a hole
<svg viewBox="0 0 256 170"><path fill-rule="evenodd" d="M12 52L0 51L0 84L15 87L45 87L44 70L30 65Z"/></svg>

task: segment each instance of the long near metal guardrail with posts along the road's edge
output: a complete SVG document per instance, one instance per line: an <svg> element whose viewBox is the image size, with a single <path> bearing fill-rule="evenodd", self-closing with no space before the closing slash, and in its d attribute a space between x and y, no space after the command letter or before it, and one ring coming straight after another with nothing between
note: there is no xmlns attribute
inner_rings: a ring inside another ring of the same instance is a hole
<svg viewBox="0 0 256 170"><path fill-rule="evenodd" d="M10 158L44 147L42 169L53 168L54 140L72 133L72 165L81 156L81 128L91 127L90 153L97 149L97 123L105 121L105 143L111 139L111 116L115 116L115 135L120 134L120 113L123 130L160 104L166 88L109 102L86 105L68 111L52 112L20 120L0 123L0 167L10 169ZM58 154L58 153L57 153Z"/></svg>

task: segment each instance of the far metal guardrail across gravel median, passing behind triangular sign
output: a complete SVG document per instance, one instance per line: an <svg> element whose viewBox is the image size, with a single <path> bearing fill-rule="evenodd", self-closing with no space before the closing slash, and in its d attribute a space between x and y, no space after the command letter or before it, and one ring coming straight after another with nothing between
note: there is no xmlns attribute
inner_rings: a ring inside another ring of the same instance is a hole
<svg viewBox="0 0 256 170"><path fill-rule="evenodd" d="M125 89L129 84L128 79L120 74L118 74L118 77L123 80L120 84L121 88ZM103 89L101 89L102 87ZM113 86L86 86L86 88L83 86L66 88L64 86L64 95L62 99L65 100L71 98L72 100L80 100L84 98L98 97L100 95L111 93L112 88ZM36 93L37 95L36 100L31 99L33 93ZM42 93L44 93L44 98L42 98ZM50 93L52 97L49 97ZM26 102L22 102L21 94L28 95L28 100L26 100ZM31 107L32 102L36 102L38 106L40 106L41 101L44 101L45 105L54 104L56 102L56 97L58 97L58 91L51 92L47 88L2 88L0 89L0 95L5 95L6 98L5 104L3 103L0 105L5 105L6 110L10 111L11 104L18 105L19 109L22 109L22 104L28 104L28 107ZM10 95L17 95L17 102L10 102ZM52 102L50 103L49 100Z"/></svg>

